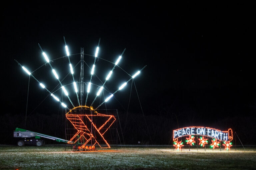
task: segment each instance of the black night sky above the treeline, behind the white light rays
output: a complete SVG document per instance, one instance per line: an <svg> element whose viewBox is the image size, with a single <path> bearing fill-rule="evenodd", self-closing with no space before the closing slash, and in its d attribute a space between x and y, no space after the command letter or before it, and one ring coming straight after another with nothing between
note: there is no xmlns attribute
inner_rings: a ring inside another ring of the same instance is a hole
<svg viewBox="0 0 256 170"><path fill-rule="evenodd" d="M84 47L84 53L94 55L101 38L101 58L114 62L126 48L120 62L124 70L134 74L147 65L135 79L145 114L176 113L179 117L193 114L200 120L212 119L213 114L222 118L255 115L254 9L245 2L190 1L180 4L97 1L76 5L13 2L2 6L1 103L7 113L24 114L28 75L14 59L35 70L45 63L38 43L50 59L56 59L66 55L65 36L71 54L80 53L80 47ZM79 59L79 54L72 56L72 64ZM85 55L85 61L91 66L93 57ZM55 60L52 65L61 79L68 74L67 58ZM79 67L78 64L75 69L77 81ZM113 64L99 59L96 74L104 80L112 67ZM85 81L89 80L89 73L85 66ZM58 84L49 65L33 75L50 91ZM129 76L117 68L106 86L114 92L128 79ZM71 75L63 82L71 83ZM92 82L100 84L95 77ZM74 102L73 87L67 86L67 89ZM131 82L115 95L117 100L107 103L107 108L126 110L130 89ZM60 96L61 90L56 94ZM47 95L30 79L28 113ZM67 98L63 100L72 108ZM35 112L50 114L58 109L59 104L48 96ZM129 110L141 112L134 85Z"/></svg>

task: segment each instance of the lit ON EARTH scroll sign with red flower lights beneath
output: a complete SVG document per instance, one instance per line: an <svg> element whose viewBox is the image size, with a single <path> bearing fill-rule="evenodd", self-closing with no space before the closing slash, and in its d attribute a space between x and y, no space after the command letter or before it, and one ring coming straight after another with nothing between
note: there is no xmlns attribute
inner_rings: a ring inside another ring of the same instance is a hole
<svg viewBox="0 0 256 170"><path fill-rule="evenodd" d="M220 141L223 141L223 146L225 149L230 149L231 143L230 141L233 139L233 132L232 129L228 129L227 131L221 131L215 128L208 128L208 127L186 127L186 128L179 128L173 130L173 142L176 149L181 149L182 141L178 141L179 138L183 136L186 137L186 142L190 146L195 144L195 136L197 136L197 140L200 142L199 145L205 146L208 144L208 137L212 138L211 142L209 142L211 147L214 149L219 147ZM200 136L200 137L198 137ZM204 138L206 136L206 138Z"/></svg>

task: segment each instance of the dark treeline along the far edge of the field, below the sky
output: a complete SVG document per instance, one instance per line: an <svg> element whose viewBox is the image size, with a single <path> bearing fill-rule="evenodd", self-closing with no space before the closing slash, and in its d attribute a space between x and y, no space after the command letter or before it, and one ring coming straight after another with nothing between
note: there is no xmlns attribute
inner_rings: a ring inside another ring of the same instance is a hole
<svg viewBox="0 0 256 170"><path fill-rule="evenodd" d="M115 115L116 113L109 114ZM115 116L117 122L112 127L118 128L118 143L121 141L122 144L138 144L138 141L140 141L140 144L172 144L172 130L187 126L206 126L220 130L232 128L243 144L256 144L256 118L254 116L236 116L226 119L216 118L214 122L211 122L213 119L203 122L196 118L193 118L193 121L189 121L192 118L185 119L183 115L179 114L143 115L142 113L119 112ZM12 137L15 128L25 128L27 130L65 138L64 114L32 114L27 117L26 127L25 118L22 114L2 114L0 120L1 144L15 144L14 138ZM46 141L46 143L57 143L52 140ZM237 144L240 144L238 138Z"/></svg>

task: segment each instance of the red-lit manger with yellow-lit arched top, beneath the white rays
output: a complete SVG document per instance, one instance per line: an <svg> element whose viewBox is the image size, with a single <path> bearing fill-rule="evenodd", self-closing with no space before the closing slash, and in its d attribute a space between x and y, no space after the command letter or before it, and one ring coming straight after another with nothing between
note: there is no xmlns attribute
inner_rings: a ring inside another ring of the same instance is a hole
<svg viewBox="0 0 256 170"><path fill-rule="evenodd" d="M72 111L75 109L90 109L91 111L93 111L95 114L72 114ZM108 118L107 121L105 121L105 123L103 123L100 127L96 125L96 123L93 121L94 117L101 117L101 118ZM104 115L104 114L100 114L98 112L96 112L92 107L88 107L88 106L78 106L78 107L74 107L73 109L71 109L67 114L66 114L66 118L70 121L70 123L74 126L74 128L77 130L76 134L71 137L71 139L68 141L69 144L73 144L75 142L77 142L79 139L80 141L83 141L83 145L79 146L80 148L85 148L87 150L96 150L95 149L95 144L98 144L100 146L100 148L111 148L109 143L107 142L107 140L104 138L104 133L113 125L113 123L116 121L116 118L113 115ZM91 133L91 131L89 130L89 128L85 125L84 123L85 121L89 121L90 124L92 125L92 127L97 131L97 133L95 135L99 136L107 145L107 147L102 147L100 145L100 143L96 140L96 137ZM109 123L109 124L107 124ZM104 128L105 130L102 131L102 128ZM79 136L79 138L76 138L77 136ZM91 140L94 139L94 144L92 146L88 146L86 147L86 144ZM73 141L74 140L74 141Z"/></svg>

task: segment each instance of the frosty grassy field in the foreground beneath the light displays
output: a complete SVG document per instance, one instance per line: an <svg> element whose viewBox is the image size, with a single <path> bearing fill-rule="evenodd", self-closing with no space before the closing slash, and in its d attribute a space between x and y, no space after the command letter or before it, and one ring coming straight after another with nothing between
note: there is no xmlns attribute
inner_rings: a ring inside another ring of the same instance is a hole
<svg viewBox="0 0 256 170"><path fill-rule="evenodd" d="M151 146L72 152L64 146L0 146L0 169L256 169L256 148L220 152Z"/></svg>

